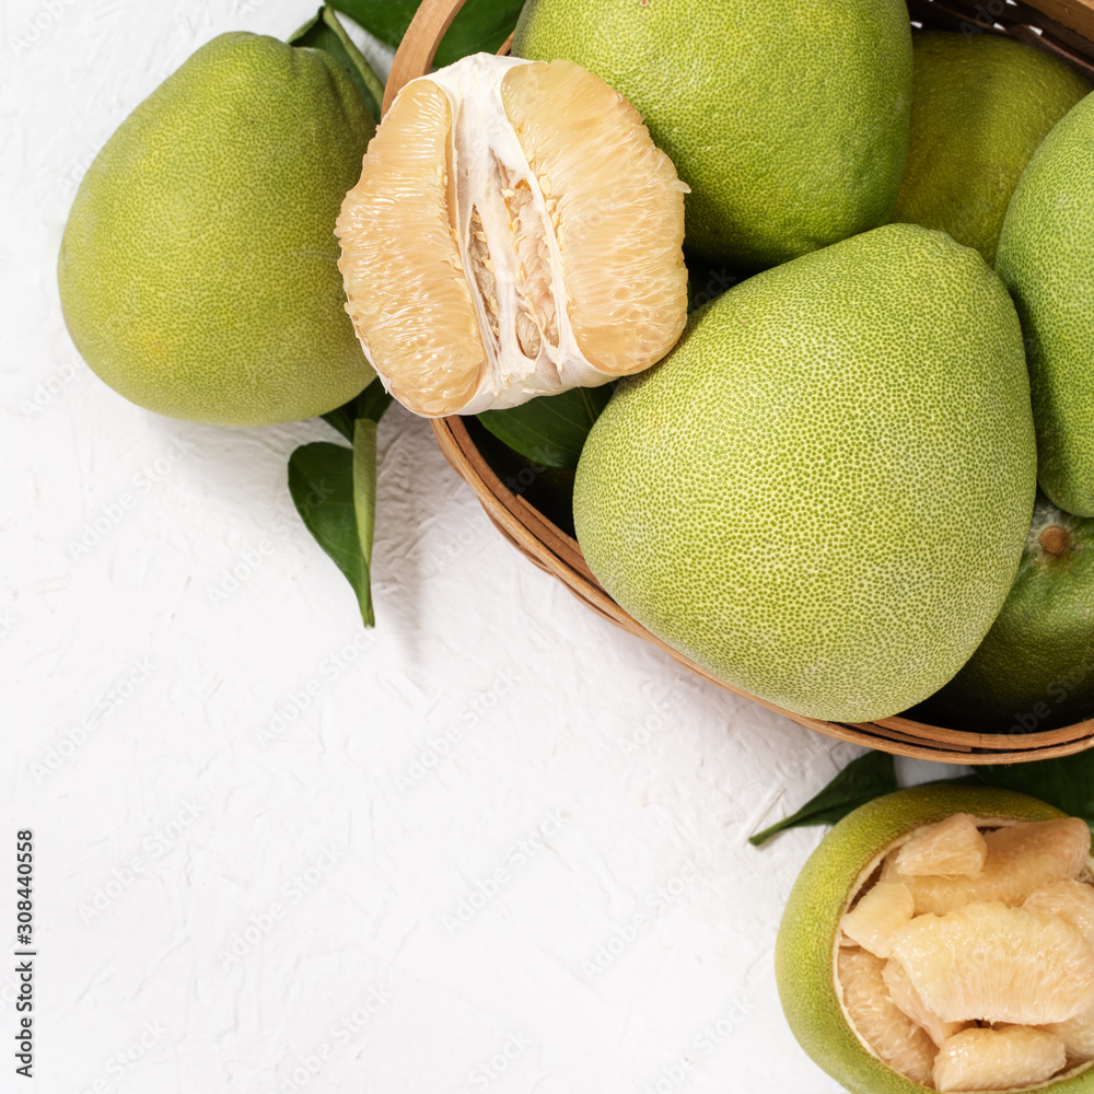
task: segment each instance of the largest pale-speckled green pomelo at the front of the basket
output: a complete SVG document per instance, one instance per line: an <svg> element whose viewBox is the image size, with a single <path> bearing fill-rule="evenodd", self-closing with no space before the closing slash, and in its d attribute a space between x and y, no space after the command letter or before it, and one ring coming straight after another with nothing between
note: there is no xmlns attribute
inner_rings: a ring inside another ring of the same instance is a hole
<svg viewBox="0 0 1094 1094"><path fill-rule="evenodd" d="M889 224L767 270L626 380L578 465L578 540L654 635L788 710L936 691L1029 527L1022 333L984 259Z"/></svg>

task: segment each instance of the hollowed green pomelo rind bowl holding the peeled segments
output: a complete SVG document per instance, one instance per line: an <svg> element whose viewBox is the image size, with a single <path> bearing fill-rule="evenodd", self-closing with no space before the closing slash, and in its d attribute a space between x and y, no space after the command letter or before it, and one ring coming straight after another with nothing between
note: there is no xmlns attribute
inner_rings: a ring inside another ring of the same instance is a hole
<svg viewBox="0 0 1094 1094"><path fill-rule="evenodd" d="M835 985L839 920L863 870L921 825L955 813L979 819L1051 821L1064 814L1025 794L980 787L912 787L848 814L810 856L791 889L775 947L775 975L790 1028L813 1061L852 1094L926 1094L868 1052L843 1017ZM1094 1094L1094 1071L1038 1090Z"/></svg>

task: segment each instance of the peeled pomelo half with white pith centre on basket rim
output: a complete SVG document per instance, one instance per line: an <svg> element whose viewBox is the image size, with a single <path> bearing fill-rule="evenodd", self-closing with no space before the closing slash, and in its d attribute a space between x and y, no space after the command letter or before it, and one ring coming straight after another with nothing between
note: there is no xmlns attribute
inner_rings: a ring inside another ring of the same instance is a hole
<svg viewBox="0 0 1094 1094"><path fill-rule="evenodd" d="M686 190L579 65L465 57L408 83L369 144L335 230L347 311L421 415L641 372L684 329Z"/></svg>

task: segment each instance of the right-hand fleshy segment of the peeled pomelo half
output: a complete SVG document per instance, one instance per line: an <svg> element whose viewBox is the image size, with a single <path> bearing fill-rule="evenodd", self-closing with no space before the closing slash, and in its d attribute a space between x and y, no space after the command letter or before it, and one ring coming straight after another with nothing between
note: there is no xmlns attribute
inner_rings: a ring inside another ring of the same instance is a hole
<svg viewBox="0 0 1094 1094"><path fill-rule="evenodd" d="M501 84L505 114L539 183L562 256L573 335L613 375L654 364L683 330L683 194L642 118L571 61L521 65ZM550 104L566 103L565 114Z"/></svg>

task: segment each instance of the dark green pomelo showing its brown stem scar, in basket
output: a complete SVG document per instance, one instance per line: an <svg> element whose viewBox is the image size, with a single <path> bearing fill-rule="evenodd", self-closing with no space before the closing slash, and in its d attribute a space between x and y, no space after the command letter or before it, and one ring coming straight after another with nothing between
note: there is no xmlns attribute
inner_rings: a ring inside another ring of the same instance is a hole
<svg viewBox="0 0 1094 1094"><path fill-rule="evenodd" d="M999 617L921 711L921 721L981 733L1050 730L1094 714L1094 520L1038 497Z"/></svg>

